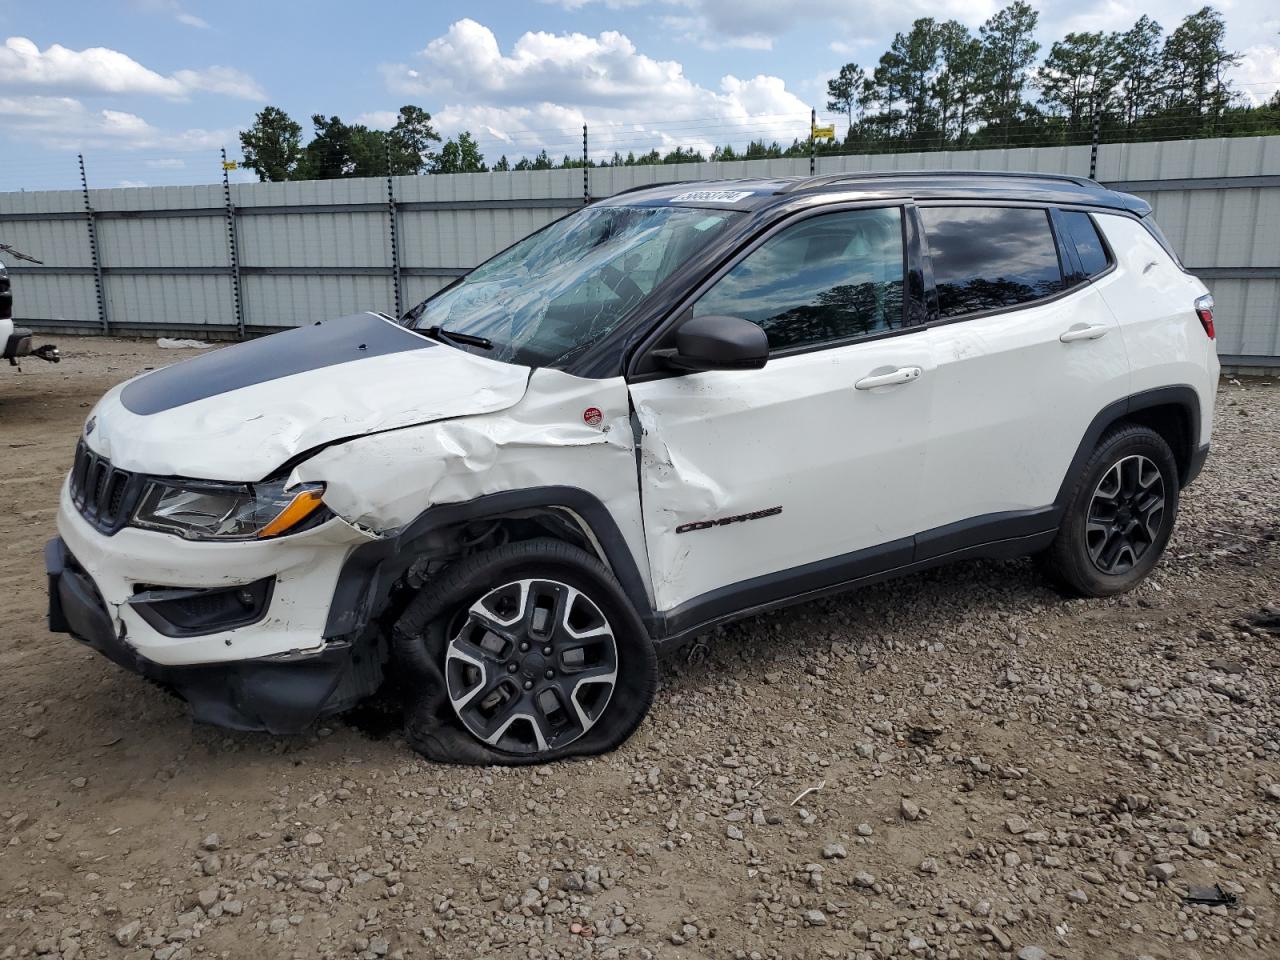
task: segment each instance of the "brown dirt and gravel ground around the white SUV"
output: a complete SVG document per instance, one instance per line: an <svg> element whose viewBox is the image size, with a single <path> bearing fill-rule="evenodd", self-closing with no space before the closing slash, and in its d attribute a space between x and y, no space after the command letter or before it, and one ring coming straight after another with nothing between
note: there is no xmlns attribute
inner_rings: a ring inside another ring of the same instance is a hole
<svg viewBox="0 0 1280 960"><path fill-rule="evenodd" d="M1274 383L1133 595L936 571L705 637L612 756L454 769L371 710L195 727L45 632L87 410L182 356L63 346L0 370L0 957L1280 957Z"/></svg>

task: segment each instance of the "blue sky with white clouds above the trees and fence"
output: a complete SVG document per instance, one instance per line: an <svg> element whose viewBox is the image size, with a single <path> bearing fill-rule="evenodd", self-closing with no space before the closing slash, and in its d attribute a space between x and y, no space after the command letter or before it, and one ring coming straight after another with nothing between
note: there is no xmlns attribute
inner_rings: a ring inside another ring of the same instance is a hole
<svg viewBox="0 0 1280 960"><path fill-rule="evenodd" d="M0 9L0 191L202 183L264 104L387 125L401 104L485 155L804 136L841 63L874 64L915 17L977 27L995 0L529 0L466 4L8 0ZM1052 0L1046 42L1128 27L1119 0ZM1196 3L1143 9L1166 29ZM1220 4L1236 79L1280 86L1272 0Z"/></svg>

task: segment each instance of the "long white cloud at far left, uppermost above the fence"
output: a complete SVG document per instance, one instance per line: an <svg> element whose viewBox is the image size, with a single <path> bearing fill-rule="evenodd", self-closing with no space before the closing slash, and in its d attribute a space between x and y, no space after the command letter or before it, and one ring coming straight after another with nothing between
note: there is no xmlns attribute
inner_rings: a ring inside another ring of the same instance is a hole
<svg viewBox="0 0 1280 960"><path fill-rule="evenodd" d="M165 77L118 50L70 50L61 44L41 50L27 37L9 37L0 47L0 90L142 93L170 100L186 100L204 91L244 100L266 99L252 77L232 67L178 70Z"/></svg>

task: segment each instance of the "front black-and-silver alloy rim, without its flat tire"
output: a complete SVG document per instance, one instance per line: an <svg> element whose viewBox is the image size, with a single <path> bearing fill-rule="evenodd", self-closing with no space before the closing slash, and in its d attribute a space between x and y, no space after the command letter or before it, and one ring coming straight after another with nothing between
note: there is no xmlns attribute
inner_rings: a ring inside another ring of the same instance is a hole
<svg viewBox="0 0 1280 960"><path fill-rule="evenodd" d="M613 628L581 590L556 580L503 584L466 611L444 680L462 726L498 750L538 754L586 733L618 676Z"/></svg>

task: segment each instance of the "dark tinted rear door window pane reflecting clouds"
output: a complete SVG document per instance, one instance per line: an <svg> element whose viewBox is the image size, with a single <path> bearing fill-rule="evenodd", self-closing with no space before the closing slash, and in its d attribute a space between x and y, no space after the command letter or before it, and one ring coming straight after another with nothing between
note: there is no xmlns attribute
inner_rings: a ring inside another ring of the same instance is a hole
<svg viewBox="0 0 1280 960"><path fill-rule="evenodd" d="M922 207L942 316L1039 300L1062 289L1047 210Z"/></svg>

